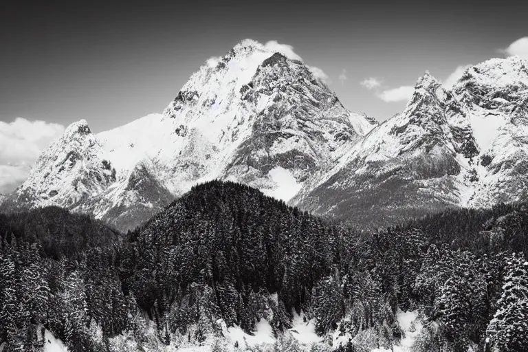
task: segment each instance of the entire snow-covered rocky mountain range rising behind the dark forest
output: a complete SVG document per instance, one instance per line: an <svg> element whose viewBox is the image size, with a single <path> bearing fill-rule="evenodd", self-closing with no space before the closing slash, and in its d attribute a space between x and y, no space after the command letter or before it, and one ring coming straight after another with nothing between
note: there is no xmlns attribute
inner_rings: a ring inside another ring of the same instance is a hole
<svg viewBox="0 0 528 352"><path fill-rule="evenodd" d="M526 199L528 62L428 72L378 124L301 61L245 40L192 74L161 114L94 134L67 127L4 209L61 206L129 230L195 184L223 179L316 214L380 227Z"/></svg>

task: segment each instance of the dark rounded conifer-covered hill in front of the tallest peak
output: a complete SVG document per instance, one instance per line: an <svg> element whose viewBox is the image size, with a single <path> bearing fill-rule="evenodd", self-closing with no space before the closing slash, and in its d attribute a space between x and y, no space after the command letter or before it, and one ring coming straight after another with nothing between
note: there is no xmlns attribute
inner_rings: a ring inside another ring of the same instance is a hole
<svg viewBox="0 0 528 352"><path fill-rule="evenodd" d="M200 184L153 217L137 238L137 272L144 273L137 280L156 287L155 278L164 278L163 287L138 291L137 300L144 309L157 302L163 310L166 300L201 283L218 295L241 294L244 301L278 292L287 311L300 309L314 284L340 266L352 240L346 229L255 188ZM160 270L160 263L168 265ZM237 322L240 314L220 308L226 321ZM250 329L254 322L241 323Z"/></svg>

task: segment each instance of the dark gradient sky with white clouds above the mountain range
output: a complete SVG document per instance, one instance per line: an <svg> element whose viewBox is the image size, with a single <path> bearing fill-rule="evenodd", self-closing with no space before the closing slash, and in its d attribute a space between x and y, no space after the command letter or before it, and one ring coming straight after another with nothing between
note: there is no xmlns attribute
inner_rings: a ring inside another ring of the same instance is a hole
<svg viewBox="0 0 528 352"><path fill-rule="evenodd" d="M528 47L525 0L254 2L2 4L0 192L64 126L85 119L97 133L162 112L242 39L293 47L345 107L380 121L404 109L426 69L449 83Z"/></svg>

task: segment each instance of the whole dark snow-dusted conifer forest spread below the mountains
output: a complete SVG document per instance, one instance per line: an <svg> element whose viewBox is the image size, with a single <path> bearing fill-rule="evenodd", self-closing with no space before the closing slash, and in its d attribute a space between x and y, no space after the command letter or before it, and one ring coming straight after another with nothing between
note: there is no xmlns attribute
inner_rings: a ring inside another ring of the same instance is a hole
<svg viewBox="0 0 528 352"><path fill-rule="evenodd" d="M210 181L133 231L61 208L0 215L0 351L527 351L527 204L368 232ZM294 316L320 342L301 346ZM269 347L225 329L272 327ZM333 342L339 338L340 344Z"/></svg>

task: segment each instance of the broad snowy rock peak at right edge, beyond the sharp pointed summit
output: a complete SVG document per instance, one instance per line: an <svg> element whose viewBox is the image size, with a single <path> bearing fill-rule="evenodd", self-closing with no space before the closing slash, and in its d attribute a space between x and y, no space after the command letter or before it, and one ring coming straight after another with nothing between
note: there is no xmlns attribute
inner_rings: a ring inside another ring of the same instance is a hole
<svg viewBox="0 0 528 352"><path fill-rule="evenodd" d="M479 148L476 178L464 205L526 199L528 62L516 56L467 69L454 95L470 117Z"/></svg>

